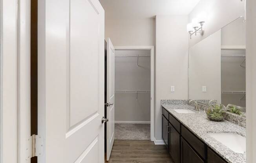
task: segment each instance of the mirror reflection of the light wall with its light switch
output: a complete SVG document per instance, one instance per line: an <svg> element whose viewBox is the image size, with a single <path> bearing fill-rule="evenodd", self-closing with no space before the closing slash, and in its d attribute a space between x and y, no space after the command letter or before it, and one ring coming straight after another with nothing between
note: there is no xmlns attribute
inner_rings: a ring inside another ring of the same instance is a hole
<svg viewBox="0 0 256 163"><path fill-rule="evenodd" d="M221 103L221 30L189 48L188 87L189 99Z"/></svg>

